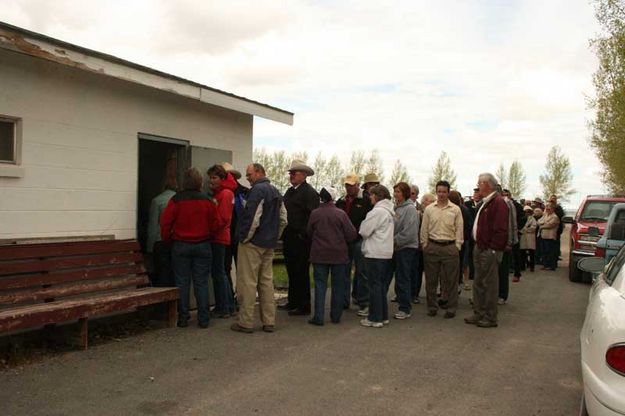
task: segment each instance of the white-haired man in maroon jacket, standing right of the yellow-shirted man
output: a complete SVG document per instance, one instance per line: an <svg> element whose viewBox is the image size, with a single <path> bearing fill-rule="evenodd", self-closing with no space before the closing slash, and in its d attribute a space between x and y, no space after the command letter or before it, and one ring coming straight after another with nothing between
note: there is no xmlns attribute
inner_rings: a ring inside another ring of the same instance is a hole
<svg viewBox="0 0 625 416"><path fill-rule="evenodd" d="M473 315L465 318L467 324L480 328L497 326L497 295L499 292L499 265L508 244L508 205L497 194L497 180L490 173L478 177L482 201L473 222Z"/></svg>

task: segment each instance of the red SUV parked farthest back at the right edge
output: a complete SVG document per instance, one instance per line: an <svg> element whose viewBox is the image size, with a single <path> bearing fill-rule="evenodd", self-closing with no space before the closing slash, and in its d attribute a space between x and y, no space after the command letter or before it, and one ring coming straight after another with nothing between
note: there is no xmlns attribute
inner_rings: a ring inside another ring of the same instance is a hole
<svg viewBox="0 0 625 416"><path fill-rule="evenodd" d="M571 224L571 252L569 254L569 280L590 282L591 275L577 267L584 257L600 255L596 253L597 241L605 231L605 225L614 205L625 203L625 197L588 195L580 204L575 216L565 216L562 222Z"/></svg>

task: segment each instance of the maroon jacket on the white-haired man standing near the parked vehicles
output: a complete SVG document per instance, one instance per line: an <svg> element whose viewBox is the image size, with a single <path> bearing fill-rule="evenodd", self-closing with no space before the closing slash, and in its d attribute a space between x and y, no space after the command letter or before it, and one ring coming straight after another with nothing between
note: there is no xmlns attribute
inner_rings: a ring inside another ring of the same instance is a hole
<svg viewBox="0 0 625 416"><path fill-rule="evenodd" d="M477 241L482 250L504 251L508 244L508 205L500 195L490 200L477 218Z"/></svg>

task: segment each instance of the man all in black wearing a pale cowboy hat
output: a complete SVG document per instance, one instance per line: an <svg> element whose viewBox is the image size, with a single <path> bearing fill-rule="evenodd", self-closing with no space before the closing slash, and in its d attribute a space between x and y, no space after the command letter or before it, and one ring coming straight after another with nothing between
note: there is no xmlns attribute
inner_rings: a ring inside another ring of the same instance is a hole
<svg viewBox="0 0 625 416"><path fill-rule="evenodd" d="M294 160L289 168L291 187L284 194L288 225L282 240L289 297L288 302L279 308L288 310L289 315L310 314L310 240L306 228L310 213L319 206L319 194L306 178L314 174L302 160Z"/></svg>

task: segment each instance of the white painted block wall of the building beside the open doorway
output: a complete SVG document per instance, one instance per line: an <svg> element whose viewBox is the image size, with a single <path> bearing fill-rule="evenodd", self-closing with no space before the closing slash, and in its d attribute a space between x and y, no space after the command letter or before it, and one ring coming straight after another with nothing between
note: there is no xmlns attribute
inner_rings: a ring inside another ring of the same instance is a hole
<svg viewBox="0 0 625 416"><path fill-rule="evenodd" d="M134 238L139 132L252 159L251 115L4 50L0 115L22 119L23 167L0 177L0 239Z"/></svg>

